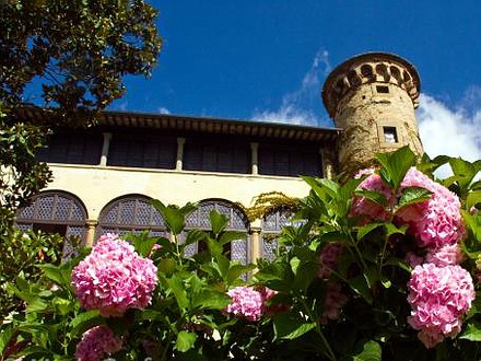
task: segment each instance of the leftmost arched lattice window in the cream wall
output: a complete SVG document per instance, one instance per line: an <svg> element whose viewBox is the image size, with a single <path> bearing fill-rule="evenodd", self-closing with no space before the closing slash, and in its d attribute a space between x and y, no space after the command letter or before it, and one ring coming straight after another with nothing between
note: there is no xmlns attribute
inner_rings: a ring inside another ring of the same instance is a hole
<svg viewBox="0 0 481 361"><path fill-rule="evenodd" d="M32 202L16 212L15 223L20 230L58 233L68 241L71 237L83 240L85 236L86 210L75 196L46 190L32 198ZM63 246L63 255L70 254L72 243Z"/></svg>

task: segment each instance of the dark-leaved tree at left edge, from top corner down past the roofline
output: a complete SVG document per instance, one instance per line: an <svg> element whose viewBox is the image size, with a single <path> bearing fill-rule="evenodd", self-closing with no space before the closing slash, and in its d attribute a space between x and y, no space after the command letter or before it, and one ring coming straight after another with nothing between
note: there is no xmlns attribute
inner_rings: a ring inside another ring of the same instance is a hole
<svg viewBox="0 0 481 361"><path fill-rule="evenodd" d="M0 225L51 177L35 160L48 127L83 126L149 75L162 40L143 0L2 0L0 26ZM42 106L48 124L19 116ZM3 229L3 226L2 226Z"/></svg>

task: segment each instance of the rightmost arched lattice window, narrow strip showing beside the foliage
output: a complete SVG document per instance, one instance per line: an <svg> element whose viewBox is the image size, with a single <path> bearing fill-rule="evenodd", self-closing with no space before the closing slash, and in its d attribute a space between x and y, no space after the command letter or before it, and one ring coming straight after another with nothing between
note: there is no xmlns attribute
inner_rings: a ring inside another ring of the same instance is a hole
<svg viewBox="0 0 481 361"><path fill-rule="evenodd" d="M289 211L275 211L267 214L262 219L262 240L261 240L261 256L272 260L279 247L278 236L282 228L286 225L292 217Z"/></svg>

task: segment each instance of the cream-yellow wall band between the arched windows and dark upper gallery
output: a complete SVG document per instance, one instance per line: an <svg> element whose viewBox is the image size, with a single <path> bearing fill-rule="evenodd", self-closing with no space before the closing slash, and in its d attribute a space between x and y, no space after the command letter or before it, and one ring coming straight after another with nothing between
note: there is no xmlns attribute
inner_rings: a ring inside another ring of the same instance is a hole
<svg viewBox="0 0 481 361"><path fill-rule="evenodd" d="M92 220L98 219L109 201L130 194L160 199L166 205L221 198L249 207L262 193L275 190L301 198L309 190L304 180L295 177L70 164L49 164L49 167L54 182L47 189L79 197Z"/></svg>

